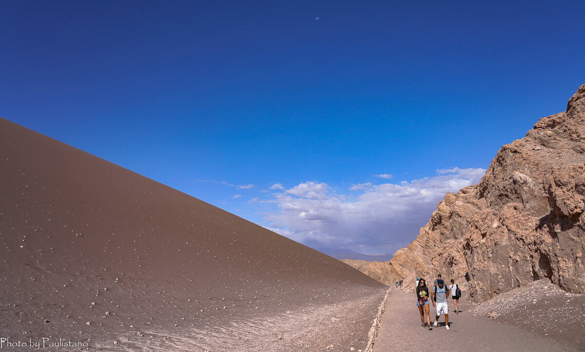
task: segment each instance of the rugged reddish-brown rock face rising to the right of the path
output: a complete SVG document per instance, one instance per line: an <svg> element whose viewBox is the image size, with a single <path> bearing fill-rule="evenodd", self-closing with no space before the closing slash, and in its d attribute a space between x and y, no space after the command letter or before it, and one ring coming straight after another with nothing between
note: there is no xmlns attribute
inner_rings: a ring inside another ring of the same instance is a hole
<svg viewBox="0 0 585 352"><path fill-rule="evenodd" d="M503 146L477 185L448 193L387 262L407 288L441 273L474 302L549 278L585 293L585 85L567 110ZM393 280L391 280L393 281Z"/></svg>

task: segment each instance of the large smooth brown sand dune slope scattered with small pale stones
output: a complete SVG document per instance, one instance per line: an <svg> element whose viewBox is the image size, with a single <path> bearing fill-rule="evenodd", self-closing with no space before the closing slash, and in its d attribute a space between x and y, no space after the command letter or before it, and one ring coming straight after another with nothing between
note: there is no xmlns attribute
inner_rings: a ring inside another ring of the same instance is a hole
<svg viewBox="0 0 585 352"><path fill-rule="evenodd" d="M386 291L334 258L4 119L0 184L8 341L359 348Z"/></svg>

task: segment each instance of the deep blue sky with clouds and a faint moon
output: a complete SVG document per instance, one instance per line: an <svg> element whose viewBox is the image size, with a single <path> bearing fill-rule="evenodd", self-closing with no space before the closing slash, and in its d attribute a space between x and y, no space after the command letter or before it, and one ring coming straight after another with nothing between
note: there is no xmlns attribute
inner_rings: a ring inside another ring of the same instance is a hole
<svg viewBox="0 0 585 352"><path fill-rule="evenodd" d="M393 252L585 83L583 1L404 3L4 1L0 116L310 246Z"/></svg>

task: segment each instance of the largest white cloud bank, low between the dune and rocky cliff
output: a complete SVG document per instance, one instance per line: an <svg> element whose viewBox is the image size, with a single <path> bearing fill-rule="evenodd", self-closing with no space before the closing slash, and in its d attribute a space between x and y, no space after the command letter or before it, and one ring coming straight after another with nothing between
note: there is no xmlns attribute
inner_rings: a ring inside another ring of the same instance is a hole
<svg viewBox="0 0 585 352"><path fill-rule="evenodd" d="M361 245L393 253L414 239L446 192L478 183L486 170L436 172L400 184L356 184L349 188L352 197L330 192L324 182L304 182L273 194L278 210L264 213L263 218L271 230L308 246L357 249Z"/></svg>

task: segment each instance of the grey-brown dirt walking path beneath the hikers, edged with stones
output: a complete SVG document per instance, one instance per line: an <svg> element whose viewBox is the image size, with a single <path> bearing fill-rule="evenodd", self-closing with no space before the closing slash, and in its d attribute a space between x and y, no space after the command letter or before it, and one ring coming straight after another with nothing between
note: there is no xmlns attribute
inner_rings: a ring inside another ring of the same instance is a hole
<svg viewBox="0 0 585 352"><path fill-rule="evenodd" d="M472 305L460 304L459 310L463 312L456 315L449 301L450 330L445 329L445 318L441 316L439 327L429 331L426 327L421 329L415 295L393 289L373 351L426 351L431 346L445 346L453 351L570 351L548 337L477 318L467 313L470 308ZM431 304L431 323L434 317Z"/></svg>

